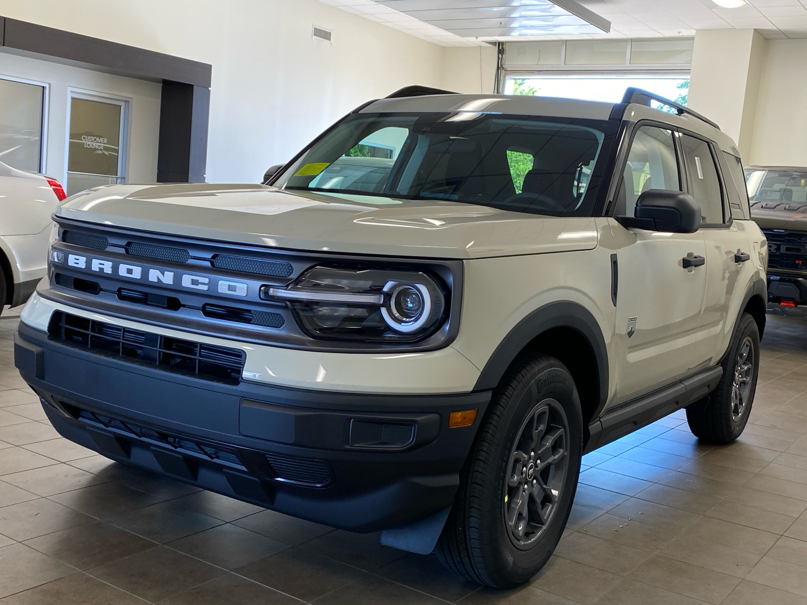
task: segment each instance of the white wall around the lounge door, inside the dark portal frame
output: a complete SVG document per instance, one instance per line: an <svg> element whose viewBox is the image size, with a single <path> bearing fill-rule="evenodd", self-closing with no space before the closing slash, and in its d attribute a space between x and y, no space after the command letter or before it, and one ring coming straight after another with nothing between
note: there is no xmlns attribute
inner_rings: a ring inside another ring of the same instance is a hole
<svg viewBox="0 0 807 605"><path fill-rule="evenodd" d="M48 84L45 173L56 177L62 184L65 183L68 88L72 87L129 100L127 180L142 183L155 181L157 135L160 128L160 84L58 65L8 52L0 52L0 77L3 76Z"/></svg>

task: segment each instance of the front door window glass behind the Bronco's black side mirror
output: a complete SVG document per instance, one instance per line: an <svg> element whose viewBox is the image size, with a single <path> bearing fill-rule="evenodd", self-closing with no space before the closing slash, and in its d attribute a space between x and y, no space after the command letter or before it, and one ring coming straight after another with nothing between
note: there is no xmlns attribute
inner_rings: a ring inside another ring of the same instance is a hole
<svg viewBox="0 0 807 605"><path fill-rule="evenodd" d="M672 131L642 126L633 136L628 161L617 193L617 216L633 216L636 200L645 191L667 189L680 191L681 180Z"/></svg>

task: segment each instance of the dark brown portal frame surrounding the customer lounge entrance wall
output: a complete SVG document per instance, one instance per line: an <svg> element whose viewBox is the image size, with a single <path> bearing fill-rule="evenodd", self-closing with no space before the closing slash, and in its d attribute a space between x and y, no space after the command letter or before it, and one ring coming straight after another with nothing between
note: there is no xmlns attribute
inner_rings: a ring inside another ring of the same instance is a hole
<svg viewBox="0 0 807 605"><path fill-rule="evenodd" d="M0 51L161 82L157 182L204 182L212 65L2 16Z"/></svg>

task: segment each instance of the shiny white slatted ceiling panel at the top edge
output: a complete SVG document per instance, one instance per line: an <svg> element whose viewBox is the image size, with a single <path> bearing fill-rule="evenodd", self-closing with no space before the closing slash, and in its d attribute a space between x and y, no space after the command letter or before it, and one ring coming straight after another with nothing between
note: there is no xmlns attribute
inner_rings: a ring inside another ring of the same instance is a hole
<svg viewBox="0 0 807 605"><path fill-rule="evenodd" d="M611 23L575 0L376 0L464 38L600 34Z"/></svg>

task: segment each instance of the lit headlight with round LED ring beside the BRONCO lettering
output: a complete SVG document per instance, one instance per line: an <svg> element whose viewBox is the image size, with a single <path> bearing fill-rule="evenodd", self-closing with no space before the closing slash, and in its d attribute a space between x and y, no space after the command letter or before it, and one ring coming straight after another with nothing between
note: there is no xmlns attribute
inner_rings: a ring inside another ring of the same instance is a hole
<svg viewBox="0 0 807 605"><path fill-rule="evenodd" d="M314 267L288 288L263 286L261 298L288 303L310 336L413 341L445 322L446 292L427 273Z"/></svg>

